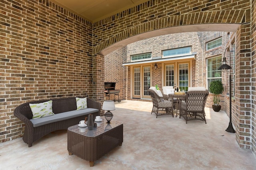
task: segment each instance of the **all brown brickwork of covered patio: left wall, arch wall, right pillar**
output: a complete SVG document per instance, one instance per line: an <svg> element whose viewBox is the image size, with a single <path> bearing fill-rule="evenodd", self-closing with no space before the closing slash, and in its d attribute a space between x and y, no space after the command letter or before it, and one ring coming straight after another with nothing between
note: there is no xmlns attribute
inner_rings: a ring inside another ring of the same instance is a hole
<svg viewBox="0 0 256 170"><path fill-rule="evenodd" d="M93 25L48 0L2 0L0 6L1 142L22 134L22 123L13 116L13 110L23 102L73 95L103 96L90 91L93 74L102 76L97 68L92 70L92 64L102 67L101 61L93 61L92 54L157 29L242 23L236 32L237 94L232 109L236 140L240 147L252 146L255 153L255 1L149 0ZM247 75L252 75L251 84L244 78ZM98 93L102 87L94 91Z"/></svg>

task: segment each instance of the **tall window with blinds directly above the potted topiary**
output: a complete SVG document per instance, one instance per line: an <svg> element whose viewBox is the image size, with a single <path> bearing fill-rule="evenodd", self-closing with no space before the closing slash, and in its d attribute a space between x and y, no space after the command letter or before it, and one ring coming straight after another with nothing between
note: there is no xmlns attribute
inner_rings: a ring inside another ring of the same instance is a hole
<svg viewBox="0 0 256 170"><path fill-rule="evenodd" d="M221 73L222 70L218 70L218 68L222 65L221 56L213 57L207 59L207 80L208 80L208 89L210 86L210 82L214 80L221 81Z"/></svg>

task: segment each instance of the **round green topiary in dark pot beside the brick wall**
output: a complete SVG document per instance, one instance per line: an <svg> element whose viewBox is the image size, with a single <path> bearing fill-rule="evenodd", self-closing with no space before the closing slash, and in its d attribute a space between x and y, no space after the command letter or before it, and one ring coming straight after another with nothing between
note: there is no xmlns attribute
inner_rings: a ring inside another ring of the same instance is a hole
<svg viewBox="0 0 256 170"><path fill-rule="evenodd" d="M209 87L210 92L213 94L213 105L212 109L214 111L220 111L220 94L224 91L223 84L220 80L215 80L210 83Z"/></svg>

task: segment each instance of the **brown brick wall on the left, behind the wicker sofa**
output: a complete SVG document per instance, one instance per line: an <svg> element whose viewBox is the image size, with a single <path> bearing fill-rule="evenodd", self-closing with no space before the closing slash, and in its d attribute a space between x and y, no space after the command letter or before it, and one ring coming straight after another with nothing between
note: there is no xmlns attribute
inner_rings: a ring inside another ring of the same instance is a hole
<svg viewBox="0 0 256 170"><path fill-rule="evenodd" d="M22 136L25 102L89 96L92 24L48 0L0 2L0 142Z"/></svg>

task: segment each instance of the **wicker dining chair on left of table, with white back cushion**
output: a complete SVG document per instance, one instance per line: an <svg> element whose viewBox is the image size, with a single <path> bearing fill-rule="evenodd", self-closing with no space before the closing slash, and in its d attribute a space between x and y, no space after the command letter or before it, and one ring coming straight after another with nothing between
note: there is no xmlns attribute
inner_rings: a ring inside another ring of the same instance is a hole
<svg viewBox="0 0 256 170"><path fill-rule="evenodd" d="M152 108L151 114L154 112L156 114L156 118L158 115L163 115L163 114L166 114L166 115L171 114L172 117L174 117L173 98L167 95L162 96L161 94L159 96L158 92L154 88L155 87L150 87L150 89L148 90L153 102L153 108Z"/></svg>

